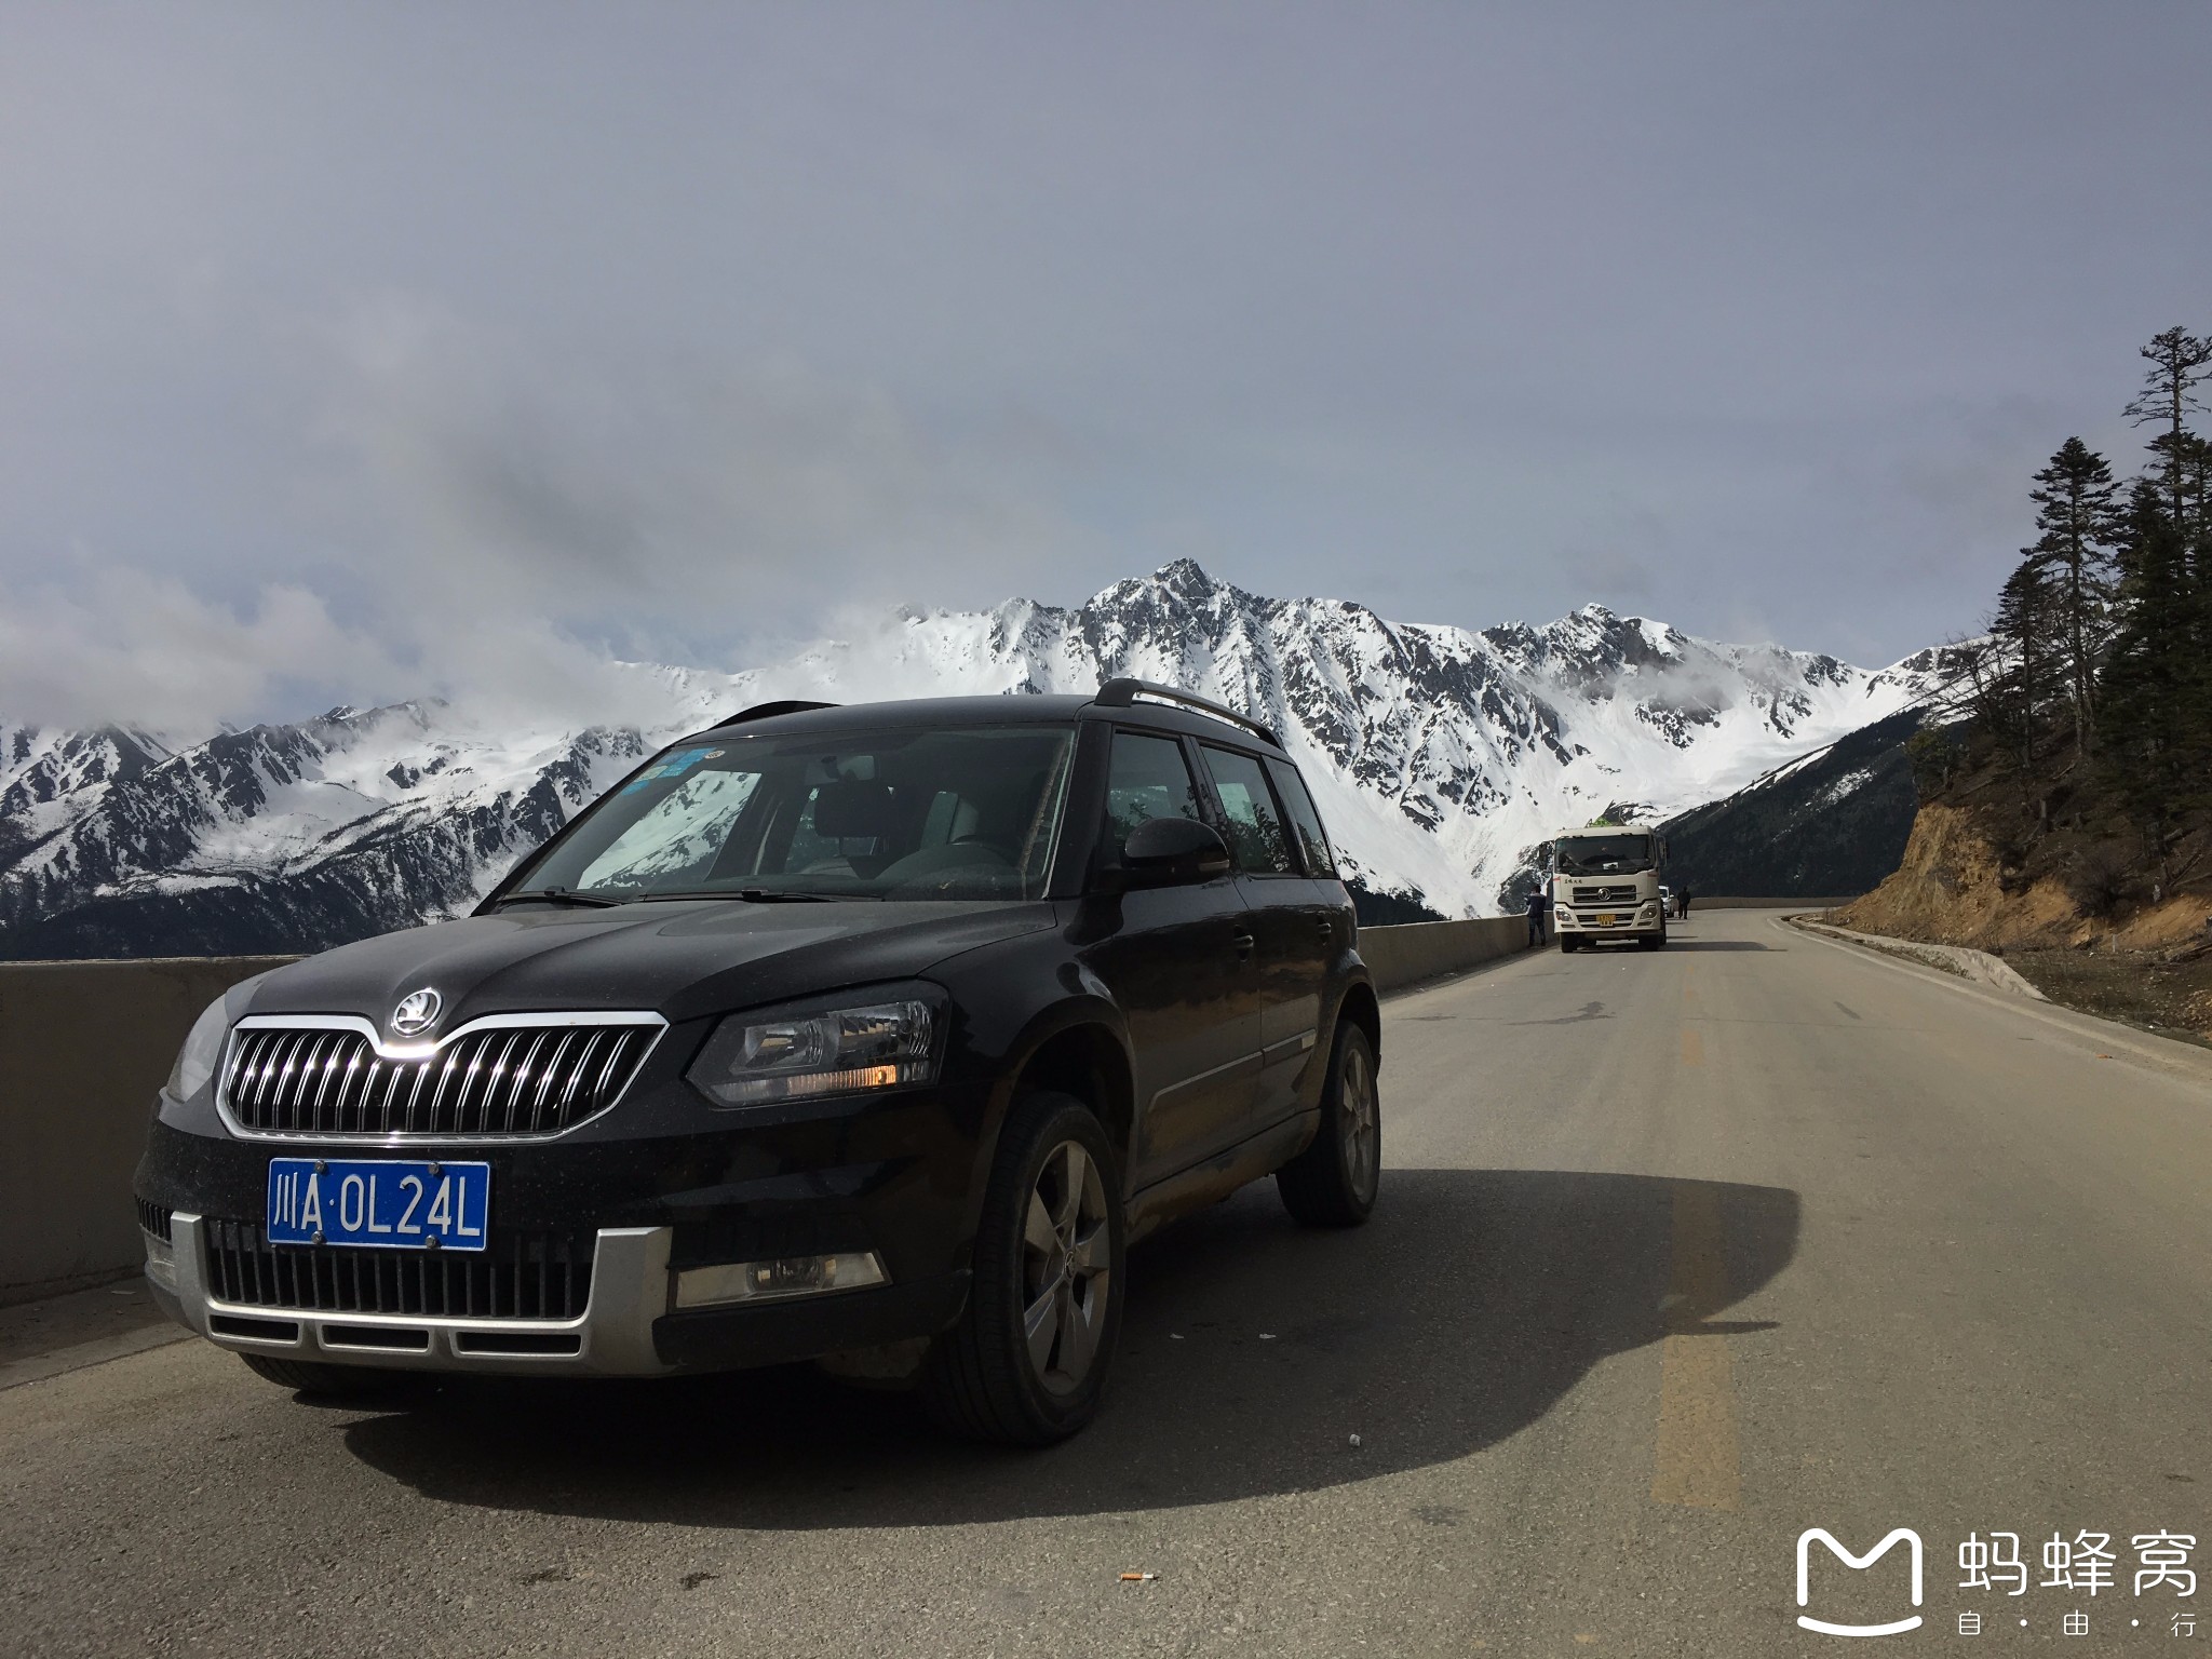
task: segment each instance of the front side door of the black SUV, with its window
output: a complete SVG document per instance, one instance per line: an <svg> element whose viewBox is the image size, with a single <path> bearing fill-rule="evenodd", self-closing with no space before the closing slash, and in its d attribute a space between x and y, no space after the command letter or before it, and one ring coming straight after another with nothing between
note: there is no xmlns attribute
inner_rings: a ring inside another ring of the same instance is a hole
<svg viewBox="0 0 2212 1659"><path fill-rule="evenodd" d="M1146 818L1208 823L1181 739L1117 730L1106 779L1104 852L1113 863ZM1241 1139L1259 1075L1254 947L1234 876L1095 900L1084 960L1128 1020L1135 1055L1135 1179L1144 1188Z"/></svg>

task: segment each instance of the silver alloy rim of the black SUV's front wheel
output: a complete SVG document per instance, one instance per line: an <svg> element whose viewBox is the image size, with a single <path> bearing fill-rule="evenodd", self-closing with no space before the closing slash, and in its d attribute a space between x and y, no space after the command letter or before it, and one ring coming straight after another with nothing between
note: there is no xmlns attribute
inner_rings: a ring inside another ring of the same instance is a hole
<svg viewBox="0 0 2212 1659"><path fill-rule="evenodd" d="M1075 1141L1044 1157L1022 1217L1022 1345L1048 1394L1075 1394L1097 1363L1113 1287L1106 1183Z"/></svg>

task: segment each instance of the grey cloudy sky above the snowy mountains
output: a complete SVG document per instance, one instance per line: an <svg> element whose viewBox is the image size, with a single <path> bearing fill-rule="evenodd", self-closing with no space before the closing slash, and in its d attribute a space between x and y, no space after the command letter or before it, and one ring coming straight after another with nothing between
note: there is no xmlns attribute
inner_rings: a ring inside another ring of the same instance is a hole
<svg viewBox="0 0 2212 1659"><path fill-rule="evenodd" d="M0 714L1190 555L1973 628L2212 327L2212 7L0 4Z"/></svg>

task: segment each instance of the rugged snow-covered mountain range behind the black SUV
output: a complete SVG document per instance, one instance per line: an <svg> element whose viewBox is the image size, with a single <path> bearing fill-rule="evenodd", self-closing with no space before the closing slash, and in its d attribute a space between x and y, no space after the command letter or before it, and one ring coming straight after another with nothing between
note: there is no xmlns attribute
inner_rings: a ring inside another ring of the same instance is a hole
<svg viewBox="0 0 2212 1659"><path fill-rule="evenodd" d="M1584 606L1544 628L1265 599L1188 560L1064 611L900 611L745 672L624 666L639 726L336 708L204 741L0 719L0 956L314 949L451 916L641 754L772 697L1093 690L1137 675L1270 721L1347 872L1491 914L1535 843L1666 818L1927 697L1944 653L1869 672Z"/></svg>

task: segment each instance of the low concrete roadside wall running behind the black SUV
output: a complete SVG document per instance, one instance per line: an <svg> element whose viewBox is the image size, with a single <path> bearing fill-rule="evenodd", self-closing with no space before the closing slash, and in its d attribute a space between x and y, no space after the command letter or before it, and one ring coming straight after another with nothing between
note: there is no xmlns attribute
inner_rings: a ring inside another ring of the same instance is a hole
<svg viewBox="0 0 2212 1659"><path fill-rule="evenodd" d="M1520 916L1363 927L1380 991L1526 945ZM117 1279L139 1263L131 1172L184 1033L283 956L0 962L0 1305Z"/></svg>

